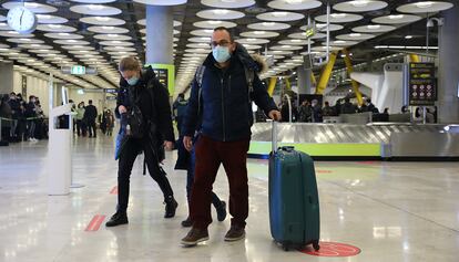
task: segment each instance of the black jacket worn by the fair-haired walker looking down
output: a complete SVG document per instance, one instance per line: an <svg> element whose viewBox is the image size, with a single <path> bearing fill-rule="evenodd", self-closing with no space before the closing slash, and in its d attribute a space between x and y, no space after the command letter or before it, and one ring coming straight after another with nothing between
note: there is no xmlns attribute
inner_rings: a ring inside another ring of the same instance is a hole
<svg viewBox="0 0 459 262"><path fill-rule="evenodd" d="M172 112L169 102L167 90L157 81L153 70L147 67L141 72L141 78L135 86L130 86L128 82L121 77L120 90L116 98L115 115L120 118L118 108L123 105L131 108L132 101L139 101L137 106L142 112L144 119L150 119L155 124L160 137L167 142L174 142L174 129L172 127Z"/></svg>

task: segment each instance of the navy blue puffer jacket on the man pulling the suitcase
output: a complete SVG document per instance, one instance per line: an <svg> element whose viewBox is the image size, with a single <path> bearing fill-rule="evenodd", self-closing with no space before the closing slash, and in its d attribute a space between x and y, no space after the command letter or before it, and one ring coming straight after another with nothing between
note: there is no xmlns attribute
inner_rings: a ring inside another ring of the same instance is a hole
<svg viewBox="0 0 459 262"><path fill-rule="evenodd" d="M195 77L191 97L183 123L183 135L193 136L201 122L200 132L220 142L234 142L251 138L253 124L249 97L266 115L277 109L274 101L266 92L265 85L255 74L253 92L248 94L244 66L255 70L256 63L241 45L232 55L231 65L225 70L216 66L212 53L203 63L205 66L201 98L200 86ZM201 101L201 116L200 116Z"/></svg>

